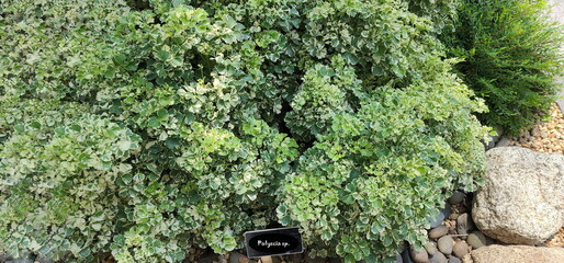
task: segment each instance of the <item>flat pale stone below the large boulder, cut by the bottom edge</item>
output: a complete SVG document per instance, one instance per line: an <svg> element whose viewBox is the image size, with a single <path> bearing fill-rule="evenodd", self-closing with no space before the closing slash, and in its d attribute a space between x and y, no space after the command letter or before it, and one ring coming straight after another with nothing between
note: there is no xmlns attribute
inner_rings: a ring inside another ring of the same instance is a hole
<svg viewBox="0 0 564 263"><path fill-rule="evenodd" d="M466 261L464 261L466 263ZM467 263L562 263L564 249L493 244L473 250Z"/></svg>

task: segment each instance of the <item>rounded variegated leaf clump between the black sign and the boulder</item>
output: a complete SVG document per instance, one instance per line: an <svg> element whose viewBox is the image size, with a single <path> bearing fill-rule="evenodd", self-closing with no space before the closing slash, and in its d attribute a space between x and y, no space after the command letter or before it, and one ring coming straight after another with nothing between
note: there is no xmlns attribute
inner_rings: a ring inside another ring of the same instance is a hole
<svg viewBox="0 0 564 263"><path fill-rule="evenodd" d="M425 242L418 229L428 227L444 190L481 183L476 135L487 129L469 112L483 105L469 99L448 64L432 62L443 71L403 90L371 92L356 114L335 116L301 157L278 213L304 229L317 254L336 248L351 262L393 256L403 240Z"/></svg>

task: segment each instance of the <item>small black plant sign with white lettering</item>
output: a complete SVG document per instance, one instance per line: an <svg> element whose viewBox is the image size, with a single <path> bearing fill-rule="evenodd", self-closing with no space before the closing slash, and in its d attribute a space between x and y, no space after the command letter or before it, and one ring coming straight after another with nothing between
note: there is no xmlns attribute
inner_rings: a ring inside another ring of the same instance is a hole
<svg viewBox="0 0 564 263"><path fill-rule="evenodd" d="M298 228L274 228L245 232L248 258L303 252Z"/></svg>

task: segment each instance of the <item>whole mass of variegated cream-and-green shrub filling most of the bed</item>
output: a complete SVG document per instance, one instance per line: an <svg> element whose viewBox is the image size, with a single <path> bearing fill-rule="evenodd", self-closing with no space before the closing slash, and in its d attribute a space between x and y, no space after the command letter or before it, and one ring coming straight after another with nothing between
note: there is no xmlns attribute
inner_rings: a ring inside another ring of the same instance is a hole
<svg viewBox="0 0 564 263"><path fill-rule="evenodd" d="M0 3L2 251L179 262L282 225L383 261L480 183L452 1Z"/></svg>

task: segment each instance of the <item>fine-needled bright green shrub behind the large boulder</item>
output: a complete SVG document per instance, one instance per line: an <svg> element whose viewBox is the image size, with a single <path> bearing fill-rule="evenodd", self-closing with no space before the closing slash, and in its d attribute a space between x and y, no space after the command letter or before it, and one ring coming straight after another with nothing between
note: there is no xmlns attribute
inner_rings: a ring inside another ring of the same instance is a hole
<svg viewBox="0 0 564 263"><path fill-rule="evenodd" d="M456 69L483 98L478 118L509 134L530 128L556 100L562 73L562 27L549 19L543 0L461 0L454 34L443 34Z"/></svg>

